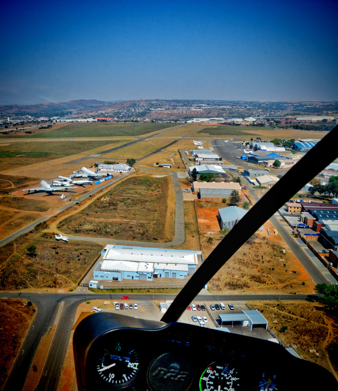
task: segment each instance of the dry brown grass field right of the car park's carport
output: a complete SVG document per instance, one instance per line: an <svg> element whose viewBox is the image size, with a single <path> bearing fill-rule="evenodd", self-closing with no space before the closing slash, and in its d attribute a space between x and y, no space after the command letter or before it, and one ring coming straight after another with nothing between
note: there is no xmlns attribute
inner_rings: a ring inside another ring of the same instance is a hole
<svg viewBox="0 0 338 391"><path fill-rule="evenodd" d="M338 379L338 362L330 361L325 351L330 342L338 341L338 324L321 304L284 301L249 304L264 315L284 345L293 348L301 358L330 370ZM284 332L282 326L287 327ZM316 350L318 356L310 349Z"/></svg>

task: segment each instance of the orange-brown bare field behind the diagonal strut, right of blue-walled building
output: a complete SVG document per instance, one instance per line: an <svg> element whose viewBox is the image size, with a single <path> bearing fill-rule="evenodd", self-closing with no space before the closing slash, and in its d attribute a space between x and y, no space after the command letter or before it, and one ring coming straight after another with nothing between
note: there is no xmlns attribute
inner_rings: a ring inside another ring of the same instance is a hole
<svg viewBox="0 0 338 391"><path fill-rule="evenodd" d="M206 259L224 237L216 216L218 208L226 205L195 202ZM287 244L274 233L269 221L264 227L265 230L257 231L211 279L208 286L212 293L313 293L315 284ZM211 243L209 238L213 238Z"/></svg>

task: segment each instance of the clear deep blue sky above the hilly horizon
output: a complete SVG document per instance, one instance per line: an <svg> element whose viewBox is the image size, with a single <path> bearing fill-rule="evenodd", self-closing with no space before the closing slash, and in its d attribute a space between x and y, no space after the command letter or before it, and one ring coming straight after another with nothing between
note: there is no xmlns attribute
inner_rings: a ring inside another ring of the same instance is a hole
<svg viewBox="0 0 338 391"><path fill-rule="evenodd" d="M338 100L337 1L1 0L0 105Z"/></svg>

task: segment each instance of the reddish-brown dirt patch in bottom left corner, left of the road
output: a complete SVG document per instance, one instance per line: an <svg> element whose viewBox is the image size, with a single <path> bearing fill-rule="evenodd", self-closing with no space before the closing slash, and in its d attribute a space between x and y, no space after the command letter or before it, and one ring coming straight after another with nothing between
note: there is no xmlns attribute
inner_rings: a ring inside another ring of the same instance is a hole
<svg viewBox="0 0 338 391"><path fill-rule="evenodd" d="M25 303L21 299L0 299L0 389L35 316L36 306Z"/></svg>

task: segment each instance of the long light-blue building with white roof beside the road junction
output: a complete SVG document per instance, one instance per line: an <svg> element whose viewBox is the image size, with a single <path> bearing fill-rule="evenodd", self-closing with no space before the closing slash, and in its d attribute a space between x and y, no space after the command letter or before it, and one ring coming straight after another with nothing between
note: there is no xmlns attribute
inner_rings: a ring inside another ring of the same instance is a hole
<svg viewBox="0 0 338 391"><path fill-rule="evenodd" d="M93 280L122 281L157 278L188 279L202 262L201 251L107 244Z"/></svg>

